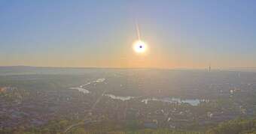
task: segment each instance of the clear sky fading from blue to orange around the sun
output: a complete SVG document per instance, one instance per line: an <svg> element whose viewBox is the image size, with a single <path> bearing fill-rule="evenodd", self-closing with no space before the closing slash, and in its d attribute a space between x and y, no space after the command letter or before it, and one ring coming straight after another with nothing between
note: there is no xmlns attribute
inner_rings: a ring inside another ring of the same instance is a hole
<svg viewBox="0 0 256 134"><path fill-rule="evenodd" d="M0 66L256 67L255 13L252 0L2 0Z"/></svg>

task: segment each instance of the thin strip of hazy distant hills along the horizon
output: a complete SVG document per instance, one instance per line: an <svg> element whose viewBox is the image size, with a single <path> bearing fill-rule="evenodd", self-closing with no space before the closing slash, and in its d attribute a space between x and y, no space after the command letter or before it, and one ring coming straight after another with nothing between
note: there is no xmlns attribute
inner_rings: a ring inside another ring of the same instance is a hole
<svg viewBox="0 0 256 134"><path fill-rule="evenodd" d="M8 75L28 75L28 74L83 74L100 70L175 70L175 71L206 71L205 69L157 69L157 68L108 68L108 67L32 67L32 66L0 66L0 76ZM256 68L227 68L214 71L252 71Z"/></svg>

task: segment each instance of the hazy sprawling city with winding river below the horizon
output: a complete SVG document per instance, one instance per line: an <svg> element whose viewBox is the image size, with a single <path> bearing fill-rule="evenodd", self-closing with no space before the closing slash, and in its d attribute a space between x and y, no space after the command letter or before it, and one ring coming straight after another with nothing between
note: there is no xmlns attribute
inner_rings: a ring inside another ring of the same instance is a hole
<svg viewBox="0 0 256 134"><path fill-rule="evenodd" d="M198 131L255 114L256 73L248 71L72 71L82 73L1 76L2 129L41 127L63 120L59 133L104 122L114 125L113 130Z"/></svg>

